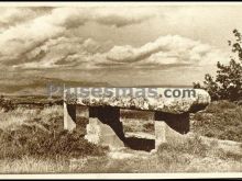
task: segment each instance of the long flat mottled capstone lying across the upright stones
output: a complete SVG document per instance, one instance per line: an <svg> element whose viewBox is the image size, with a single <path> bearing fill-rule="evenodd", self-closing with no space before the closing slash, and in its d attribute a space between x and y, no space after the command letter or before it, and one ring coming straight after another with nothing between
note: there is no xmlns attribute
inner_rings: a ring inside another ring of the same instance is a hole
<svg viewBox="0 0 242 181"><path fill-rule="evenodd" d="M210 95L202 89L188 88L69 88L64 91L64 101L180 114L202 110L209 104Z"/></svg>

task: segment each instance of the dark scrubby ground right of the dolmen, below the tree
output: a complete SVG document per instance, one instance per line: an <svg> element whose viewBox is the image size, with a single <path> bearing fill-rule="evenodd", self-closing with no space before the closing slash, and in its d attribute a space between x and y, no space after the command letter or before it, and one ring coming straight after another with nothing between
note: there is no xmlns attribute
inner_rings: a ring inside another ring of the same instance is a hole
<svg viewBox="0 0 242 181"><path fill-rule="evenodd" d="M219 139L242 142L242 105L216 101L193 117L193 132Z"/></svg>

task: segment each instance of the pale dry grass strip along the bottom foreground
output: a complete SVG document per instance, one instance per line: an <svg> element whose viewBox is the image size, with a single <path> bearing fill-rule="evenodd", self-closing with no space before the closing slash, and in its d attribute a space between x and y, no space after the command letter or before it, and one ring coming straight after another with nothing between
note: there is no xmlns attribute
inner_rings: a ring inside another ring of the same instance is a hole
<svg viewBox="0 0 242 181"><path fill-rule="evenodd" d="M127 157L127 152L131 155ZM22 157L4 159L0 172L9 173L165 173L165 172L235 172L242 171L242 155L231 155L191 137L180 145L162 145L156 154L118 151L110 155L85 156L78 159Z"/></svg>

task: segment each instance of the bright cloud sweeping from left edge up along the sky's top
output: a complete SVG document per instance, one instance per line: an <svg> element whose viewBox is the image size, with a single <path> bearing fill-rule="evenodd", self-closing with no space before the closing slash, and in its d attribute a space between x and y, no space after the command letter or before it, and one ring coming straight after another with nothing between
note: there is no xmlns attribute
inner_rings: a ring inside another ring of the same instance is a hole
<svg viewBox="0 0 242 181"><path fill-rule="evenodd" d="M14 61L21 63L26 53L48 39L65 36L67 30L84 25L88 21L121 27L141 23L154 13L146 9L145 11L142 9L123 9L122 11L119 9L118 11L117 8L113 8L106 11L102 8L91 10L88 8L55 8L50 13L37 14L36 10L28 8L7 8L1 12L0 24L15 24L8 26L4 31L1 30L0 61L9 65Z"/></svg>

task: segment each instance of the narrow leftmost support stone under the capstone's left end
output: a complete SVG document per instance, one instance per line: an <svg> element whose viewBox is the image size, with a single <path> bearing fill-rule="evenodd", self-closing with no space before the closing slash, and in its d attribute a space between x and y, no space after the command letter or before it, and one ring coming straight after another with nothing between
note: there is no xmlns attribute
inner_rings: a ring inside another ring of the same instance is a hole
<svg viewBox="0 0 242 181"><path fill-rule="evenodd" d="M76 104L64 102L64 129L73 131L76 128Z"/></svg>

